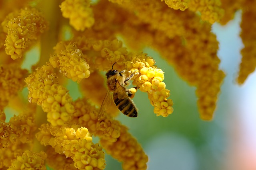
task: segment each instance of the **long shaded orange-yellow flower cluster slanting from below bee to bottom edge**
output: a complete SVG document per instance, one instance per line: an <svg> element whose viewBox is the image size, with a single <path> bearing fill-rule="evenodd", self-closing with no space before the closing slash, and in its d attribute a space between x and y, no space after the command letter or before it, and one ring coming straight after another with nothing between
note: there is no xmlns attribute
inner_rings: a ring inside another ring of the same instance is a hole
<svg viewBox="0 0 256 170"><path fill-rule="evenodd" d="M110 118L108 112L98 121L98 109L88 104L86 100L77 100L74 106L78 108L74 113L75 119L77 117L80 125L88 127L90 133L100 137L100 143L106 152L124 162L124 170L146 169L148 157L136 139L127 132L124 125ZM46 138L44 141L48 141L48 139ZM132 153L128 154L129 151ZM133 155L136 155L135 159L133 159Z"/></svg>

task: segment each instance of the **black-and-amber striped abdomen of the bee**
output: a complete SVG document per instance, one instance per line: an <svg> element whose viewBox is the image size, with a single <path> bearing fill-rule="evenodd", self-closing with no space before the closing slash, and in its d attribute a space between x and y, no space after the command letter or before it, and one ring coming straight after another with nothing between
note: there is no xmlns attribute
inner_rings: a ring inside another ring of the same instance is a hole
<svg viewBox="0 0 256 170"><path fill-rule="evenodd" d="M129 117L137 117L138 113L137 113L137 109L134 106L134 104L132 103L132 100L130 100L130 98L126 97L126 98L118 98L118 94L117 93L113 93L113 100L116 104L116 107L125 115L129 116Z"/></svg>

